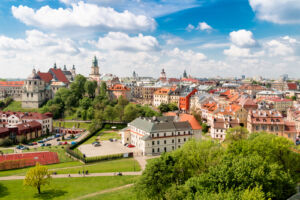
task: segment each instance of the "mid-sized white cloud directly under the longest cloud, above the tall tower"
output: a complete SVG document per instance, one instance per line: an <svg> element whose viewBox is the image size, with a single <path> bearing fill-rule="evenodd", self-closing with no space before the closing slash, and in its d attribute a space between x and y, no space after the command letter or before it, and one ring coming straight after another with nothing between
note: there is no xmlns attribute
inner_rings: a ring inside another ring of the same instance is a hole
<svg viewBox="0 0 300 200"><path fill-rule="evenodd" d="M121 32L109 32L106 36L100 37L96 46L103 50L121 51L156 51L159 49L155 37L139 34L130 37Z"/></svg>

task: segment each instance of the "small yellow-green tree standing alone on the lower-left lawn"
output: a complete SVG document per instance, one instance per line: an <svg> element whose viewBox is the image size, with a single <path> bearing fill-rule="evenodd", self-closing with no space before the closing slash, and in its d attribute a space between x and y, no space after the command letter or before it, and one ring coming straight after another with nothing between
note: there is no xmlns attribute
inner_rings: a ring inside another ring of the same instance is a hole
<svg viewBox="0 0 300 200"><path fill-rule="evenodd" d="M36 163L34 168L31 168L24 179L24 185L35 187L38 193L41 193L41 186L50 184L51 176L48 168Z"/></svg>

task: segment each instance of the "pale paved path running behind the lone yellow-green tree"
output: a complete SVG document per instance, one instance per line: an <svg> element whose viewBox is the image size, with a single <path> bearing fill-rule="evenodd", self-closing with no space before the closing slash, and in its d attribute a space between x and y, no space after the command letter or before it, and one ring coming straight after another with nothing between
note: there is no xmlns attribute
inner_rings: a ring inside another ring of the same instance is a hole
<svg viewBox="0 0 300 200"><path fill-rule="evenodd" d="M141 175L142 172L122 172L123 176L138 176ZM96 177L96 176L116 176L116 173L114 172L107 172L107 173L90 173L88 175L82 175L82 174L57 174L57 175L51 175L52 178L77 178L77 177ZM25 176L5 176L0 177L0 181L8 181L8 180L22 180Z"/></svg>

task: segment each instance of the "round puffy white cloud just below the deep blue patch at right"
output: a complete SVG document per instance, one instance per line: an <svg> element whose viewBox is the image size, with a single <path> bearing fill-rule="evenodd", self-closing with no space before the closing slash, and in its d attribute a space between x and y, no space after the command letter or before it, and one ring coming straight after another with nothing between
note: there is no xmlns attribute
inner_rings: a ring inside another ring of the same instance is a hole
<svg viewBox="0 0 300 200"><path fill-rule="evenodd" d="M256 44L251 31L244 29L233 31L229 34L229 36L231 42L239 47L251 47Z"/></svg>

